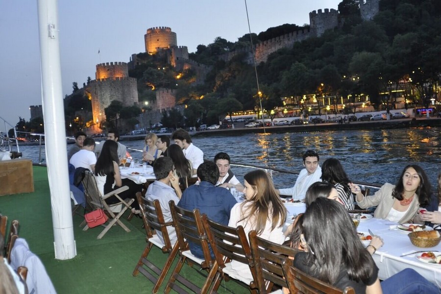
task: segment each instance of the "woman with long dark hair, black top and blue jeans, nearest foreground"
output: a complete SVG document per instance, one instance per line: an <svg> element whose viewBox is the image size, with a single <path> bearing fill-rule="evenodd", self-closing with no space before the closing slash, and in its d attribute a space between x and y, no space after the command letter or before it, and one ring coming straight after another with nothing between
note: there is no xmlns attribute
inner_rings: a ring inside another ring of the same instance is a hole
<svg viewBox="0 0 441 294"><path fill-rule="evenodd" d="M317 198L303 216L300 236L307 252L295 255L294 266L339 289L355 293L440 293L415 270L406 269L380 285L378 268L360 242L349 214L336 201Z"/></svg>

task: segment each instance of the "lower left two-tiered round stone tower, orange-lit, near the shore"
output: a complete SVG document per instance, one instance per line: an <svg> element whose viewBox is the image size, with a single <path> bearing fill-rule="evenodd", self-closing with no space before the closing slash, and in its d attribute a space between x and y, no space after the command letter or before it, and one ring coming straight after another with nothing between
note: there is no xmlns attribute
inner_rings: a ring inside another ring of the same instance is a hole
<svg viewBox="0 0 441 294"><path fill-rule="evenodd" d="M90 82L86 94L92 102L94 123L105 121L104 109L113 100L123 102L124 106L138 104L136 78L128 76L127 63L107 62L97 64L96 80Z"/></svg>

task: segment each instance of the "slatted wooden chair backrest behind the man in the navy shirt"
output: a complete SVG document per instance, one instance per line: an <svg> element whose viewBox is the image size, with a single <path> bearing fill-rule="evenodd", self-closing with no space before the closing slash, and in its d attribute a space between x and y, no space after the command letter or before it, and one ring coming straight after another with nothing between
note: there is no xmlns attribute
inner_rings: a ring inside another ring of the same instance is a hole
<svg viewBox="0 0 441 294"><path fill-rule="evenodd" d="M189 211L180 208L174 204L173 200L170 200L169 205L180 250L188 248L187 242L200 246L204 255L201 267L210 268L212 260L208 246L208 237L203 228L199 209Z"/></svg>

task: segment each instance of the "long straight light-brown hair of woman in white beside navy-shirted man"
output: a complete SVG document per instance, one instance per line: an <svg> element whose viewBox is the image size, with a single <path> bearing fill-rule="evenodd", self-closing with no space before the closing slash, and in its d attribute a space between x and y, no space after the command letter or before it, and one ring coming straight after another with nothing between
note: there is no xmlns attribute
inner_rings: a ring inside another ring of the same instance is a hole
<svg viewBox="0 0 441 294"><path fill-rule="evenodd" d="M241 211L240 221L248 222L252 219L254 222L251 223L252 228L258 235L265 230L267 220L271 221L271 230L274 230L276 226L281 226L286 218L286 209L268 174L257 170L245 174L244 179L253 188L255 194L251 199L245 200L242 205L242 209L244 207L247 209Z"/></svg>

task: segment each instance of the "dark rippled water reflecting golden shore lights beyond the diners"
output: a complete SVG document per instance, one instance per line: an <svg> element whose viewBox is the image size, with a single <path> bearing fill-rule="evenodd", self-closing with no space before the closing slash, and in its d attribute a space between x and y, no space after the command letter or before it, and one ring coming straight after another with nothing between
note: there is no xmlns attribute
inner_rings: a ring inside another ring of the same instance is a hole
<svg viewBox="0 0 441 294"><path fill-rule="evenodd" d="M268 146L264 134L195 137L193 143L204 152L205 159L213 159L224 151L232 163L264 166L270 162L271 166L293 172L303 168L303 152L316 149L320 163L335 157L342 162L350 179L380 185L395 183L406 165L416 163L436 187L441 163L440 137L440 128L406 128L268 133ZM144 141L122 143L139 149L144 146ZM20 150L24 157L38 161L38 146L24 146ZM141 152L131 151L131 154L141 159ZM249 170L234 167L233 171L243 182L243 175ZM278 185L293 186L294 181L294 175L274 173Z"/></svg>

